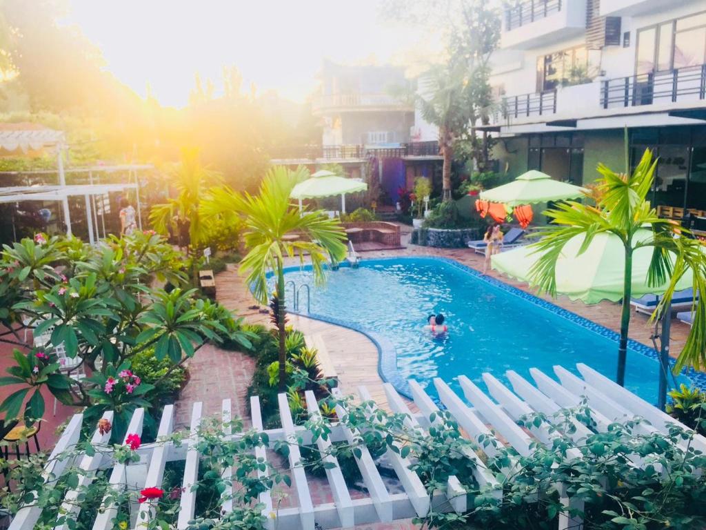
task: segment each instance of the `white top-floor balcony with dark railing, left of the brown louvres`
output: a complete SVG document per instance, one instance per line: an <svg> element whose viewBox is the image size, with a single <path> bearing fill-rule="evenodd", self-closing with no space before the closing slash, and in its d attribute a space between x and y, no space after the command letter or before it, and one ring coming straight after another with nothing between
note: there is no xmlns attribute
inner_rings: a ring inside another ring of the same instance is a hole
<svg viewBox="0 0 706 530"><path fill-rule="evenodd" d="M586 0L523 0L505 9L502 48L530 49L580 35Z"/></svg>

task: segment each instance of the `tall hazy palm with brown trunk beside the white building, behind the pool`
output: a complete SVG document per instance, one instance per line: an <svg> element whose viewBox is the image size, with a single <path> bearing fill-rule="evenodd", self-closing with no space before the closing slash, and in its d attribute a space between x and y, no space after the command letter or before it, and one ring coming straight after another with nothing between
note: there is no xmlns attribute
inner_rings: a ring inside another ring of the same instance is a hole
<svg viewBox="0 0 706 530"><path fill-rule="evenodd" d="M451 200L451 162L454 142L468 129L471 119L468 91L469 71L460 61L433 66L421 80L417 104L421 116L439 129L439 151L443 158L441 173L443 200Z"/></svg>

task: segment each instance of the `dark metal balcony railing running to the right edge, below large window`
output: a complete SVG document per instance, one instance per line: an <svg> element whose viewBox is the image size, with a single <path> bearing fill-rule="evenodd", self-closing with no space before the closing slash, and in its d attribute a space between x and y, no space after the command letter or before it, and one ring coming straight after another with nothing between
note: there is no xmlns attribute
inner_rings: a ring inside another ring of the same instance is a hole
<svg viewBox="0 0 706 530"><path fill-rule="evenodd" d="M706 98L706 64L603 81L601 105L637 107Z"/></svg>

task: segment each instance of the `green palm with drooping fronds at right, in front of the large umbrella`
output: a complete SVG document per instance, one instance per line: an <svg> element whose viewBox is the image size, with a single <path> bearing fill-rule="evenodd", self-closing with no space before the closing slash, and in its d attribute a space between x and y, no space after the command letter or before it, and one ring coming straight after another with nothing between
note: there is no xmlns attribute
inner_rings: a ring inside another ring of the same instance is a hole
<svg viewBox="0 0 706 530"><path fill-rule="evenodd" d="M642 155L632 175L615 173L600 164L598 171L602 178L597 181L592 194L595 206L567 201L546 211L545 215L549 216L552 224L540 233L542 239L533 245L540 257L530 271L531 281L540 291L556 296L556 261L571 238L578 235L584 237L580 252L584 252L599 233L610 232L623 242L625 273L616 377L616 382L621 385L625 382L635 250L642 247L653 249L647 274L649 285L664 285L671 277L669 287L652 315L653 319L669 307L676 284L689 269L693 272L694 292L706 293L706 254L702 243L684 237L688 236L688 232L681 226L659 218L647 200L655 167L657 160L652 161L649 149ZM649 240L635 238L638 230L645 228L651 228L654 237ZM684 365L706 367L706 306L701 300L696 304L694 323L677 360L676 371Z"/></svg>

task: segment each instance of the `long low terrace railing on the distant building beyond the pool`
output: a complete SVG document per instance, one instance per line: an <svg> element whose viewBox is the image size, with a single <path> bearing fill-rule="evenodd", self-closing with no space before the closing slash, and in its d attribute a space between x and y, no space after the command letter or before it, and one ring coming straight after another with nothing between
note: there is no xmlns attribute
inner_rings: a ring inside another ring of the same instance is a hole
<svg viewBox="0 0 706 530"><path fill-rule="evenodd" d="M406 156L438 156L437 141L400 143L399 146L295 146L280 148L276 160L360 160L364 158L403 158Z"/></svg>

